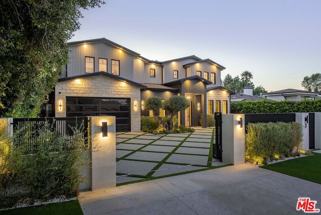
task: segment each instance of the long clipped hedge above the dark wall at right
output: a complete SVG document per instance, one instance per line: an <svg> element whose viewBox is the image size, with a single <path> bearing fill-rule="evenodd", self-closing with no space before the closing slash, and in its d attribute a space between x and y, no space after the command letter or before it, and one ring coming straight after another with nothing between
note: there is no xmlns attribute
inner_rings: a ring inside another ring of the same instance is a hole
<svg viewBox="0 0 321 215"><path fill-rule="evenodd" d="M302 101L241 101L231 102L231 110L239 113L321 112L321 99Z"/></svg>

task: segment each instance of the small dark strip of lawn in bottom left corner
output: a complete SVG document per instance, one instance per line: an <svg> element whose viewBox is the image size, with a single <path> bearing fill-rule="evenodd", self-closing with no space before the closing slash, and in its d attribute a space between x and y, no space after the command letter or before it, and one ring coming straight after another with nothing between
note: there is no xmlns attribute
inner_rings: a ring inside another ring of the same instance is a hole
<svg viewBox="0 0 321 215"><path fill-rule="evenodd" d="M0 211L0 214L20 215L83 215L78 199L61 203L52 203L32 207L16 208L11 210Z"/></svg>

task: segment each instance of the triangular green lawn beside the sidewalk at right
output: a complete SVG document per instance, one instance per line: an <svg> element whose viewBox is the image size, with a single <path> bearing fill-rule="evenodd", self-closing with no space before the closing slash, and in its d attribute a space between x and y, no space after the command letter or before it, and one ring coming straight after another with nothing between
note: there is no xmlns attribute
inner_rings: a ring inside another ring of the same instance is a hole
<svg viewBox="0 0 321 215"><path fill-rule="evenodd" d="M319 153L261 167L321 184L321 154Z"/></svg>

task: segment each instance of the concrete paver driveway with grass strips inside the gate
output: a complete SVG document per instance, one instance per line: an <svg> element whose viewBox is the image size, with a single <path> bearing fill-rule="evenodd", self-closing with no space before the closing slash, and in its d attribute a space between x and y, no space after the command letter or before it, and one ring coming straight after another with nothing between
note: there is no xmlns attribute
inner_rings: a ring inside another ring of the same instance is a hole
<svg viewBox="0 0 321 215"><path fill-rule="evenodd" d="M117 185L226 165L212 158L213 128L192 133L116 133Z"/></svg>

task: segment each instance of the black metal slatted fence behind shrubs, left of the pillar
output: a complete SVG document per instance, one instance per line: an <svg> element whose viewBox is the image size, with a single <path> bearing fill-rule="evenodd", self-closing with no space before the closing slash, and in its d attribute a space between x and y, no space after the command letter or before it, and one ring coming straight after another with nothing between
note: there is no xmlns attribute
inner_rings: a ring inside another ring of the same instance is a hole
<svg viewBox="0 0 321 215"><path fill-rule="evenodd" d="M13 132L19 132L19 135L23 137L20 138L19 144L32 145L33 142L36 142L46 121L50 125L48 128L53 135L65 138L65 147L74 138L73 128L81 131L79 139L88 147L88 117L14 118ZM27 152L32 153L33 151L30 149Z"/></svg>

